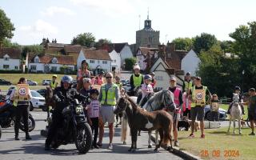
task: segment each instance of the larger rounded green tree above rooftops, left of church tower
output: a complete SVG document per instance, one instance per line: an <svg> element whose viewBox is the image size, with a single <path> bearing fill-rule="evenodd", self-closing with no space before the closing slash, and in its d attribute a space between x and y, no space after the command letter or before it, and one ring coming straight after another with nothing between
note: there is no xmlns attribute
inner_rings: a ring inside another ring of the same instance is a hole
<svg viewBox="0 0 256 160"><path fill-rule="evenodd" d="M95 37L92 33L83 33L78 34L77 37L74 37L71 41L72 45L81 45L90 47L95 42Z"/></svg>

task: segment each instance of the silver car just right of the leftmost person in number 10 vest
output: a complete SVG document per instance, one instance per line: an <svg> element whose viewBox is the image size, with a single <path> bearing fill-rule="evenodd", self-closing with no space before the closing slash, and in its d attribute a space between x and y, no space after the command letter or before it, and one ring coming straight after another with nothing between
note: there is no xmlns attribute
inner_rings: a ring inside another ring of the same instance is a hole
<svg viewBox="0 0 256 160"><path fill-rule="evenodd" d="M46 108L46 99L42 97L36 90L30 90L32 98L30 99L30 111L34 108L41 108L45 110Z"/></svg>

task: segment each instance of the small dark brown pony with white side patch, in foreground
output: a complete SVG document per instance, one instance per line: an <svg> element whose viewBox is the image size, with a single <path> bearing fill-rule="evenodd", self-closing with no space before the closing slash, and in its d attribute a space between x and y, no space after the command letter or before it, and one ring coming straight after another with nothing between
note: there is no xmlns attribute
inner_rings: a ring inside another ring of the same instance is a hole
<svg viewBox="0 0 256 160"><path fill-rule="evenodd" d="M173 117L165 110L157 110L148 112L138 107L135 102L127 95L120 98L118 105L114 110L114 114L125 111L128 117L128 124L130 126L131 133L131 146L128 151L135 151L137 149L137 136L138 130L152 131L158 130L160 134L160 142L155 147L155 151L158 150L163 139L170 141L170 147L166 147L168 150L172 149L171 145L171 130L173 124ZM167 143L165 144L167 146Z"/></svg>

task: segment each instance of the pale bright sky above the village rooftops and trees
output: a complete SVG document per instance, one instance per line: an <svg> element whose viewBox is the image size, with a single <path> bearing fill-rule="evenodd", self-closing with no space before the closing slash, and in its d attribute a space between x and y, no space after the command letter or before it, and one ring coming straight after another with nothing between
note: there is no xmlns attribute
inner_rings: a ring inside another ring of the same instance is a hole
<svg viewBox="0 0 256 160"><path fill-rule="evenodd" d="M85 32L111 42L136 41L149 9L160 42L214 34L231 40L240 25L256 21L254 0L0 0L0 8L14 23L12 42L40 44L42 38L69 44Z"/></svg>

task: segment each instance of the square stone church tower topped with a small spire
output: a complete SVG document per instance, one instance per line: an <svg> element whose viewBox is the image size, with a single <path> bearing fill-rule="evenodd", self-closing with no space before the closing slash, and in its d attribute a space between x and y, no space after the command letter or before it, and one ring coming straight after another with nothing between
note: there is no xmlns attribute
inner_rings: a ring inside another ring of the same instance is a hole
<svg viewBox="0 0 256 160"><path fill-rule="evenodd" d="M159 42L159 34L160 31L153 30L151 27L149 11L147 14L147 19L144 22L144 28L142 30L136 31L136 48L142 47L150 47L150 48L158 48Z"/></svg>

